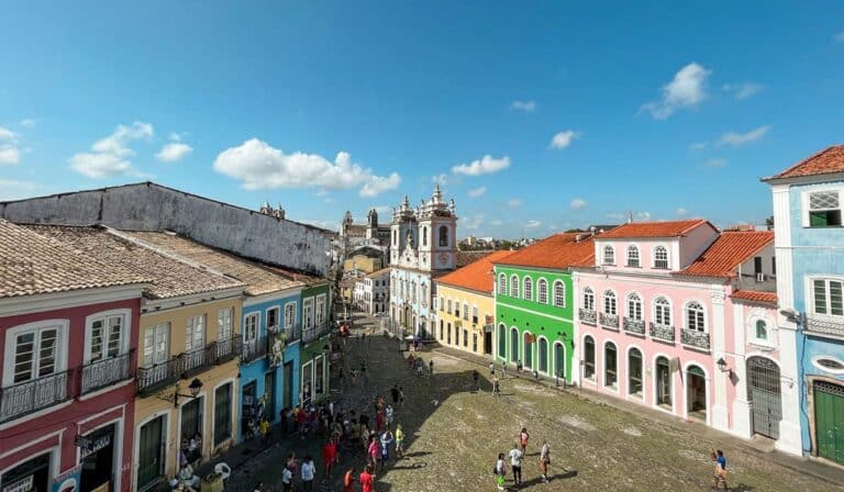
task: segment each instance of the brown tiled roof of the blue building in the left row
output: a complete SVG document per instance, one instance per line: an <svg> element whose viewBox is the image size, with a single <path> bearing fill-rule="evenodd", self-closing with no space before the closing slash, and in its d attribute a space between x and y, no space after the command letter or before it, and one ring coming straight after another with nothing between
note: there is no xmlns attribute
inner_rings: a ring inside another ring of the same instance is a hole
<svg viewBox="0 0 844 492"><path fill-rule="evenodd" d="M244 292L247 295L262 295L303 286L302 282L264 268L259 262L206 246L177 234L165 232L123 232L123 234L235 278L246 284Z"/></svg>

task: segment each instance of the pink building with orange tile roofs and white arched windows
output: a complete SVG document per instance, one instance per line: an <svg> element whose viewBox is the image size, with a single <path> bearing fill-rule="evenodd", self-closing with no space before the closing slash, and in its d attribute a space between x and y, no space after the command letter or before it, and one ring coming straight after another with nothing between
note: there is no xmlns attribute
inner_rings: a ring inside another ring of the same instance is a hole
<svg viewBox="0 0 844 492"><path fill-rule="evenodd" d="M596 265L573 268L581 385L749 437L745 355L778 359L773 241L704 220L597 236Z"/></svg>

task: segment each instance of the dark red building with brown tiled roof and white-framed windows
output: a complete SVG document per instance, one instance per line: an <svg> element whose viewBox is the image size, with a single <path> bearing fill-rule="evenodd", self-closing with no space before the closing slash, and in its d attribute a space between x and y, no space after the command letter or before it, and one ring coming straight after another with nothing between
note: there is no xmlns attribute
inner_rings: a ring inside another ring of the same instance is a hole
<svg viewBox="0 0 844 492"><path fill-rule="evenodd" d="M0 490L131 490L144 279L0 220Z"/></svg>

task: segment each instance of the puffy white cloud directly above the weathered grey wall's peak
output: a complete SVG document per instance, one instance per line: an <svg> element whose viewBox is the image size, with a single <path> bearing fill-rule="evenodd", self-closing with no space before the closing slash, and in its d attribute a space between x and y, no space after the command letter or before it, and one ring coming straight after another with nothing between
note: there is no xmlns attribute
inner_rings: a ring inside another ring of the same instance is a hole
<svg viewBox="0 0 844 492"><path fill-rule="evenodd" d="M118 175L142 176L132 167L129 157L135 155L129 143L149 138L153 125L136 121L131 126L118 125L111 135L91 146L92 153L79 153L70 157L70 167L89 178L108 178Z"/></svg>

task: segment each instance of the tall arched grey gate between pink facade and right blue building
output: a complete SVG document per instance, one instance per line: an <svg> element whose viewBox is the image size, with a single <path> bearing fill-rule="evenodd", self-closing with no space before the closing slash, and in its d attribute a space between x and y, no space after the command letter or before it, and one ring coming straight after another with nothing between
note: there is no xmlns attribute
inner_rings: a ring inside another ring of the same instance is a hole
<svg viewBox="0 0 844 492"><path fill-rule="evenodd" d="M782 420L779 367L765 357L747 358L747 402L754 434L779 438Z"/></svg>

